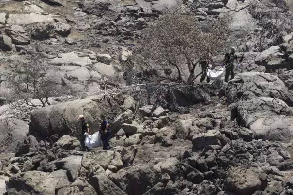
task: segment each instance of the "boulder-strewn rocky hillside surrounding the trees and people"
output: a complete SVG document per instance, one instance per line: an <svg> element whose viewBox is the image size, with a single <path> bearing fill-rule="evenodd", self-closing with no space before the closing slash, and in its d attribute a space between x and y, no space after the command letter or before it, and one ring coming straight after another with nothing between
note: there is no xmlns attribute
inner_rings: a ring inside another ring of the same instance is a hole
<svg viewBox="0 0 293 195"><path fill-rule="evenodd" d="M0 1L0 195L293 195L291 21L277 38L271 30L292 12L253 2ZM230 16L244 55L235 78L124 87L121 62L141 30L174 9L203 31ZM52 65L56 91L72 93L12 115L8 77L36 57ZM112 149L79 150L80 114L92 133L109 118Z"/></svg>

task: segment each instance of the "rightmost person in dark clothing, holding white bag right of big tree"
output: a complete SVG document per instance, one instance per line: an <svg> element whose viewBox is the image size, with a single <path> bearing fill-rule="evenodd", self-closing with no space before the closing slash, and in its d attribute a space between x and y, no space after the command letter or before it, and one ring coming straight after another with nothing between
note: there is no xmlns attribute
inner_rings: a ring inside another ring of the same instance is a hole
<svg viewBox="0 0 293 195"><path fill-rule="evenodd" d="M226 74L225 74L225 82L228 83L229 75L231 73L230 80L234 78L234 60L238 63L238 68L240 68L239 61L237 60L237 56L235 54L236 48L232 47L231 52L225 54L225 59L223 60L222 66L225 64L226 66Z"/></svg>

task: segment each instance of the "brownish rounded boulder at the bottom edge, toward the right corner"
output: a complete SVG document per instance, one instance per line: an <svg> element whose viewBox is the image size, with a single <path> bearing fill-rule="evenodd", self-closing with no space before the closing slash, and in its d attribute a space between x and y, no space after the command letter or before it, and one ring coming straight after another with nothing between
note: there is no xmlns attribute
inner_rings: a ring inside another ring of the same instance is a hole
<svg viewBox="0 0 293 195"><path fill-rule="evenodd" d="M232 167L224 182L224 190L237 195L252 195L257 190L266 187L266 174L257 173L252 169Z"/></svg>

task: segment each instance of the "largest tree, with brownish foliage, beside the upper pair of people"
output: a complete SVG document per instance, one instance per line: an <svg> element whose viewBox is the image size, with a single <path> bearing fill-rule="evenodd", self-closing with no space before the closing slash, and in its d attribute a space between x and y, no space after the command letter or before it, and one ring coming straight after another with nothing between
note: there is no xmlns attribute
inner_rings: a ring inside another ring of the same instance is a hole
<svg viewBox="0 0 293 195"><path fill-rule="evenodd" d="M229 37L229 19L221 18L212 23L212 29L203 32L195 15L170 12L142 31L142 41L131 57L134 77L144 80L188 82L195 79L195 67L201 59L211 56ZM143 73L145 71L145 73Z"/></svg>

